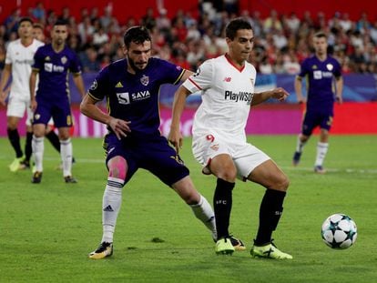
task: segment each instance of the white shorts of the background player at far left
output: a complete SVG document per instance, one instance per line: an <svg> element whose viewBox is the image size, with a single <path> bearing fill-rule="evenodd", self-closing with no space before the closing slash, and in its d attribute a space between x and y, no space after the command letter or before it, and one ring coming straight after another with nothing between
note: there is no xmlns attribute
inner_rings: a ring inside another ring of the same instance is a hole
<svg viewBox="0 0 377 283"><path fill-rule="evenodd" d="M8 105L6 108L6 116L16 116L22 118L27 114L25 124L31 126L33 112L30 109L30 97L21 96L18 94L11 94L9 96Z"/></svg>

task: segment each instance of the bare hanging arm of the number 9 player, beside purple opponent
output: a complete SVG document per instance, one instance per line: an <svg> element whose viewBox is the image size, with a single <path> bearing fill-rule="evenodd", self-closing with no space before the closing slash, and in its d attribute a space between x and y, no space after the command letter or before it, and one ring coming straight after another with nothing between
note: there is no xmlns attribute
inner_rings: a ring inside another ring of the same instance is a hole
<svg viewBox="0 0 377 283"><path fill-rule="evenodd" d="M182 112L186 105L186 97L190 94L191 93L185 86L179 86L174 94L168 141L173 147L176 148L177 153L179 153L179 149L183 146L183 137L179 129L180 116L182 116Z"/></svg>

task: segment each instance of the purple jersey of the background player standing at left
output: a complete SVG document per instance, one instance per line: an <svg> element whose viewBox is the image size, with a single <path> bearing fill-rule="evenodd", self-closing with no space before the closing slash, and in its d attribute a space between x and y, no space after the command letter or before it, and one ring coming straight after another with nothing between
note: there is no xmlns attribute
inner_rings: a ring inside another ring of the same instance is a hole
<svg viewBox="0 0 377 283"><path fill-rule="evenodd" d="M68 46L56 53L52 45L38 48L33 69L39 72L36 100L60 100L69 96L68 74L81 73L81 66L74 51Z"/></svg>

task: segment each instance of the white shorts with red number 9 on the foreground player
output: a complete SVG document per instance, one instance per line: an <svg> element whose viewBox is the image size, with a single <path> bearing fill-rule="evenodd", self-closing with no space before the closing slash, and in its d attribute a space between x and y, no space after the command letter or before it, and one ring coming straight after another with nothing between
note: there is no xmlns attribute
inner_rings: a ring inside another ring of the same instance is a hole
<svg viewBox="0 0 377 283"><path fill-rule="evenodd" d="M245 141L243 136L235 139L234 136L219 134L216 131L198 135L192 138L192 152L203 167L207 167L210 160L220 154L228 154L237 167L239 179L246 180L255 167L270 159L259 148Z"/></svg>

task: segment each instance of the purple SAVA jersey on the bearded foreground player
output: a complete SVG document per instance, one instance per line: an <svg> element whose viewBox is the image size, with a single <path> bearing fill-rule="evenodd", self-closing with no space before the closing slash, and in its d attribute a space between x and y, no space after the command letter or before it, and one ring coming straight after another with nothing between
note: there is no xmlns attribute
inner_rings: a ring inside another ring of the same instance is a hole
<svg viewBox="0 0 377 283"><path fill-rule="evenodd" d="M97 101L106 97L110 116L131 121L127 136L159 136L159 87L177 84L184 72L165 60L150 58L148 66L134 75L127 72L127 59L122 59L99 73L88 94Z"/></svg>

